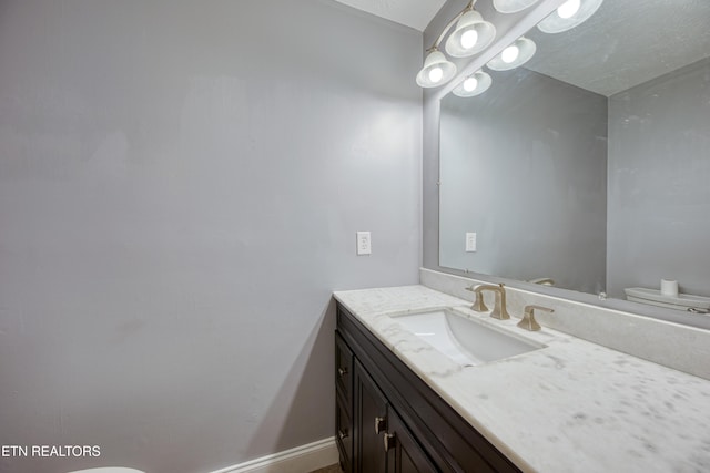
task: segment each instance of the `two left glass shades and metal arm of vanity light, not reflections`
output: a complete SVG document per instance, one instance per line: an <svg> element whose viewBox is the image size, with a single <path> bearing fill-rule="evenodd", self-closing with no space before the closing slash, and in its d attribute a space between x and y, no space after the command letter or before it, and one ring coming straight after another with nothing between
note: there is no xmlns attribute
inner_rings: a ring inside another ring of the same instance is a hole
<svg viewBox="0 0 710 473"><path fill-rule="evenodd" d="M432 48L427 50L424 66L417 74L420 88L444 85L456 75L456 64L447 60L439 44L456 24L456 29L446 41L446 52L453 58L467 58L487 48L496 37L496 27L484 21L480 13L474 10L476 0L470 0L466 8L448 22Z"/></svg>

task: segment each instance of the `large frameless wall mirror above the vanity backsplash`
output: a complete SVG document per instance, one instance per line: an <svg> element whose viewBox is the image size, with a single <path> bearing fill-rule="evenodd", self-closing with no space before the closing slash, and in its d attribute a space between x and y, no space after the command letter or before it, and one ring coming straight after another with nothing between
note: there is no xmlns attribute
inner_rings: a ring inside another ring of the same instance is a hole
<svg viewBox="0 0 710 473"><path fill-rule="evenodd" d="M607 0L526 37L530 61L442 100L439 265L710 298L710 1Z"/></svg>

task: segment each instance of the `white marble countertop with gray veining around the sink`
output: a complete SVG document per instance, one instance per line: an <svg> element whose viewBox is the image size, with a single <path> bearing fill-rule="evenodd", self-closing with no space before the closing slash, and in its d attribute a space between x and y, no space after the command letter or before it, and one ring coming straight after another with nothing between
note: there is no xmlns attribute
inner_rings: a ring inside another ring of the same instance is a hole
<svg viewBox="0 0 710 473"><path fill-rule="evenodd" d="M545 327L527 332L425 286L334 295L524 471L710 472L708 380ZM388 316L440 307L547 347L463 367Z"/></svg>

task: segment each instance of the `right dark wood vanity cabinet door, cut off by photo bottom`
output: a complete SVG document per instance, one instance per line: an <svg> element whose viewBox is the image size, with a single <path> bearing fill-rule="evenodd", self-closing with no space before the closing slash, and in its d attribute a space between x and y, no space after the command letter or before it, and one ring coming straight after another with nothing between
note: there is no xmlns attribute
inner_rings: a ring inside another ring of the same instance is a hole
<svg viewBox="0 0 710 473"><path fill-rule="evenodd" d="M383 439L387 450L387 473L429 473L438 471L399 415L389 409L388 429Z"/></svg>

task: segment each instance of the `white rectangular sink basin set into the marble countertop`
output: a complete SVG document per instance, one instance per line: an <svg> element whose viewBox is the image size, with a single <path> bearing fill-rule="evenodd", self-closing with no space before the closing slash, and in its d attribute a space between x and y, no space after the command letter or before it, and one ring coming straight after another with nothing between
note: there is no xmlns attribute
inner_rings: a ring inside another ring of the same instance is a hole
<svg viewBox="0 0 710 473"><path fill-rule="evenodd" d="M450 309L390 316L394 321L464 366L476 366L545 348Z"/></svg>

